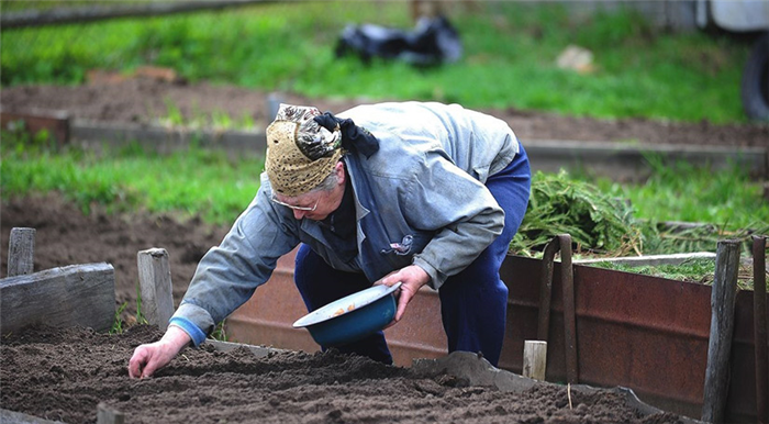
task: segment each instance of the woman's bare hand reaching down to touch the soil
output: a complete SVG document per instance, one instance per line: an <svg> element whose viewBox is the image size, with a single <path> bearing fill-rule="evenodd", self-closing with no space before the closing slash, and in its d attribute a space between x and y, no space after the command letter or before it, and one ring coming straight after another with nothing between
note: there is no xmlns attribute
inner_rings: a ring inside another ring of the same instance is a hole
<svg viewBox="0 0 769 424"><path fill-rule="evenodd" d="M131 378L151 377L155 371L168 365L174 357L192 339L183 330L171 325L163 338L155 343L141 345L129 360Z"/></svg>

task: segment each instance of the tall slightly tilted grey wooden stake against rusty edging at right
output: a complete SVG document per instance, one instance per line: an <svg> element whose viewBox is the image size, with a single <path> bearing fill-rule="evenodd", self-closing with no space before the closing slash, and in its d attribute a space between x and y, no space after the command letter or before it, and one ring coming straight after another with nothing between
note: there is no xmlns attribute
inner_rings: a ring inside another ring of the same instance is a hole
<svg viewBox="0 0 769 424"><path fill-rule="evenodd" d="M702 421L709 423L723 423L726 411L738 270L739 242L720 241L711 294L711 334L702 405Z"/></svg>

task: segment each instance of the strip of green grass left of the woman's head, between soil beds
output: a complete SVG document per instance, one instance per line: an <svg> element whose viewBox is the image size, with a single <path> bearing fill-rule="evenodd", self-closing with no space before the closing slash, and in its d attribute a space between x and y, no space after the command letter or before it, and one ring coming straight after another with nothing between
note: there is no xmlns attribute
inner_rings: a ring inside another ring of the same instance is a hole
<svg viewBox="0 0 769 424"><path fill-rule="evenodd" d="M264 160L191 147L159 155L132 144L97 154L67 148L56 152L44 137L30 141L0 132L0 198L57 191L83 212L100 205L108 212L146 210L210 223L230 223L259 186Z"/></svg>

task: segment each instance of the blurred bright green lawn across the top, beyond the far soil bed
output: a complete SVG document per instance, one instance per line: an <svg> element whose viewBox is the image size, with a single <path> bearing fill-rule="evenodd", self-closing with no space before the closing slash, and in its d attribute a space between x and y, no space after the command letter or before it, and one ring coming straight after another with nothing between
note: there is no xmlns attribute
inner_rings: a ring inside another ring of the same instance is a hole
<svg viewBox="0 0 769 424"><path fill-rule="evenodd" d="M276 2L229 11L0 34L0 85L81 83L91 68L176 69L188 80L309 97L459 102L600 118L745 122L739 100L749 44L702 32L672 34L631 11L576 19L564 7L488 1L457 10L464 58L417 69L335 58L348 23L411 29L404 0ZM595 71L556 67L568 45L589 48Z"/></svg>

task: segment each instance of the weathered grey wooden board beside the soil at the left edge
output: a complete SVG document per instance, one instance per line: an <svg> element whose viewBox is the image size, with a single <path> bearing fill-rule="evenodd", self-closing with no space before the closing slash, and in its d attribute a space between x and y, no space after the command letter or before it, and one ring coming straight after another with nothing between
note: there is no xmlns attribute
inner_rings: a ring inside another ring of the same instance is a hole
<svg viewBox="0 0 769 424"><path fill-rule="evenodd" d="M0 334L32 324L112 327L115 278L112 265L85 264L0 280Z"/></svg>

